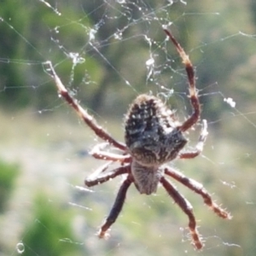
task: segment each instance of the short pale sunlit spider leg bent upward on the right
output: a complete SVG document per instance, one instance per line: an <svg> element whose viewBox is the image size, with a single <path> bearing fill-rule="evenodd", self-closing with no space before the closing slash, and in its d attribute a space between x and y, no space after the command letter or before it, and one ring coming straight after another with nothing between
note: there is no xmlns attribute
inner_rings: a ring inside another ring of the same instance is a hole
<svg viewBox="0 0 256 256"><path fill-rule="evenodd" d="M195 146L195 150L192 152L181 152L178 157L180 159L189 159L189 158L194 158L195 156L201 154L204 148L204 143L207 140L207 135L208 135L207 120L203 119L200 137L199 137L198 143Z"/></svg>

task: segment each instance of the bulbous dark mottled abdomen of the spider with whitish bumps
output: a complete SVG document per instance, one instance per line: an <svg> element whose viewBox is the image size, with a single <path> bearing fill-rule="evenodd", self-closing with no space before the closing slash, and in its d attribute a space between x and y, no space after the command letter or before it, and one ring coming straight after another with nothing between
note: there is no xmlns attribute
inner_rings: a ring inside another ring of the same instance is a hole
<svg viewBox="0 0 256 256"><path fill-rule="evenodd" d="M187 143L171 109L155 96L140 95L125 116L125 143L142 166L160 166Z"/></svg>

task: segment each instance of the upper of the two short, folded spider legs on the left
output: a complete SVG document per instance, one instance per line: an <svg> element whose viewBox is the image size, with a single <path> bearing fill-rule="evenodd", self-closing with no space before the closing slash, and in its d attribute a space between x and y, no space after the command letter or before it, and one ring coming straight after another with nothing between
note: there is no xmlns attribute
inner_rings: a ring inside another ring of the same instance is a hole
<svg viewBox="0 0 256 256"><path fill-rule="evenodd" d="M90 150L90 154L94 158L101 160L119 161L121 163L127 163L131 161L130 154L113 154L110 152L102 151L102 148L106 148L106 146L108 146L108 143L97 144L94 148Z"/></svg>

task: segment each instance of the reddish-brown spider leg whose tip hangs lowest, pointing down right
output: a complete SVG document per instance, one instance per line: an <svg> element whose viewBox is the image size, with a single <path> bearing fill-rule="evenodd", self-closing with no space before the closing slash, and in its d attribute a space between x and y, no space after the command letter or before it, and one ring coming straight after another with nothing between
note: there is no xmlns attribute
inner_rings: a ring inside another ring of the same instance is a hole
<svg viewBox="0 0 256 256"><path fill-rule="evenodd" d="M166 180L165 177L160 178L160 183L164 186L168 194L172 197L172 199L177 203L179 207L186 213L189 217L189 230L192 236L192 241L196 247L196 249L200 250L203 247L202 241L200 239L200 235L196 228L195 216L193 213L193 207L187 201L183 195L180 195L177 189L174 188L172 183Z"/></svg>

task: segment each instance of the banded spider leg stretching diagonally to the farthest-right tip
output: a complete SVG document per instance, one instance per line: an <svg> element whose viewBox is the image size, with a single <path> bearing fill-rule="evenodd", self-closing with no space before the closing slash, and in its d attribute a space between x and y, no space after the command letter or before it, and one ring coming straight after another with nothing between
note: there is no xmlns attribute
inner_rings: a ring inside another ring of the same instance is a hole
<svg viewBox="0 0 256 256"><path fill-rule="evenodd" d="M192 178L186 177L181 172L171 169L169 166L165 168L166 175L175 178L179 183L183 183L184 186L193 190L198 195L201 195L205 204L212 209L221 218L232 218L229 212L219 207L215 202L212 201L211 195L207 192L207 189L203 187L201 183L198 183Z"/></svg>

